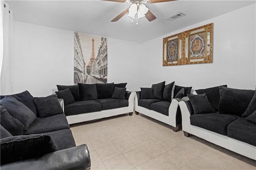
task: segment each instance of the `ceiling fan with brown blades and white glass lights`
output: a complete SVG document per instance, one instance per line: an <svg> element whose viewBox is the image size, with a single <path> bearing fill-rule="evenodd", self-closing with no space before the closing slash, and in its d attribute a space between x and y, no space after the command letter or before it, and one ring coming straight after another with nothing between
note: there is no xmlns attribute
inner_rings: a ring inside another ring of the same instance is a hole
<svg viewBox="0 0 256 170"><path fill-rule="evenodd" d="M150 12L150 10L148 10L148 8L142 3L153 4L153 3L159 3L159 2L169 2L169 1L174 1L174 0L105 0L105 1L132 3L130 8L127 8L126 10L121 12L111 22L118 21L120 18L122 18L128 12L129 12L128 16L130 18L135 18L136 14L137 14L137 16L136 16L137 19L145 16L148 19L148 21L150 22L150 21L153 21L154 19L156 19L156 16L154 16L154 14L152 14L152 12ZM138 22L137 22L137 25L138 25Z"/></svg>

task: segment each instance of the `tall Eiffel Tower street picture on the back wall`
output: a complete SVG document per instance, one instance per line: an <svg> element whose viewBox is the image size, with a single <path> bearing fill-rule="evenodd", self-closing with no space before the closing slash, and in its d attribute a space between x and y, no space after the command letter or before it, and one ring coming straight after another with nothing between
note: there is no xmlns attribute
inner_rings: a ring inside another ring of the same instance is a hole
<svg viewBox="0 0 256 170"><path fill-rule="evenodd" d="M108 78L108 40L74 33L74 84L106 83Z"/></svg>

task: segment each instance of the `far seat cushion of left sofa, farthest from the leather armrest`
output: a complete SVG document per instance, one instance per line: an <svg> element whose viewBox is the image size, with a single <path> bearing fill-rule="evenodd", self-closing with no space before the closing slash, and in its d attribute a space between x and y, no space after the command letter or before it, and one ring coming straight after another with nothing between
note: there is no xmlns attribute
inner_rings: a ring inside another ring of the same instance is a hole
<svg viewBox="0 0 256 170"><path fill-rule="evenodd" d="M45 118L36 118L24 134L46 133L69 128L66 116L61 113Z"/></svg>

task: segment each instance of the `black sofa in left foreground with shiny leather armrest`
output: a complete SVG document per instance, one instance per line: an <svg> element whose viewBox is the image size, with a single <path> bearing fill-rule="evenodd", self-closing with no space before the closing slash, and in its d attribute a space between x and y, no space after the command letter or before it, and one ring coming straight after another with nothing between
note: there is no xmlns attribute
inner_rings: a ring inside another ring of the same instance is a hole
<svg viewBox="0 0 256 170"><path fill-rule="evenodd" d="M90 169L86 144L76 146L56 95L1 96L1 170Z"/></svg>

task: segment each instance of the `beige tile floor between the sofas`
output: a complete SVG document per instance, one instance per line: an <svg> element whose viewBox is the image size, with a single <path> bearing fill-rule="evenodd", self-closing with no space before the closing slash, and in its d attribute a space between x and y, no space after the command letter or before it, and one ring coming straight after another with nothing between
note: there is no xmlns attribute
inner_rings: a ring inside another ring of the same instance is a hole
<svg viewBox="0 0 256 170"><path fill-rule="evenodd" d="M87 144L92 170L252 169L256 161L144 115L128 114L71 125Z"/></svg>

